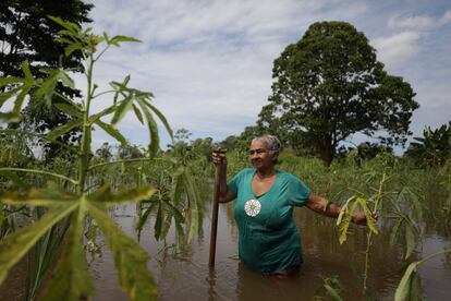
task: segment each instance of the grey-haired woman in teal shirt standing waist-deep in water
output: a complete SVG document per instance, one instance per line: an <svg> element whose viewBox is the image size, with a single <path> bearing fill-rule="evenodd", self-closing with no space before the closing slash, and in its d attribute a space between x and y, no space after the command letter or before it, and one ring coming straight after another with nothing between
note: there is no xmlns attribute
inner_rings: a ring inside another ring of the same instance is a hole
<svg viewBox="0 0 451 301"><path fill-rule="evenodd" d="M295 275L303 262L293 206L307 206L330 217L338 217L340 207L328 205L295 176L277 170L279 152L276 136L254 139L249 149L253 168L241 170L229 183L226 155L214 153L212 161L220 166L219 202L236 198L240 260L258 273L284 277ZM352 220L366 224L363 213L354 213Z"/></svg>

